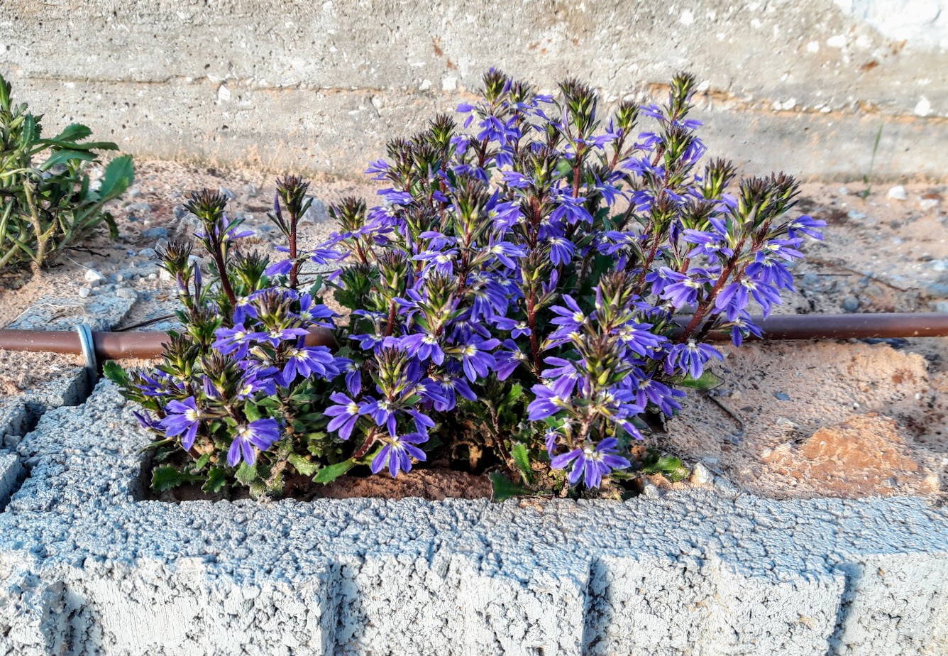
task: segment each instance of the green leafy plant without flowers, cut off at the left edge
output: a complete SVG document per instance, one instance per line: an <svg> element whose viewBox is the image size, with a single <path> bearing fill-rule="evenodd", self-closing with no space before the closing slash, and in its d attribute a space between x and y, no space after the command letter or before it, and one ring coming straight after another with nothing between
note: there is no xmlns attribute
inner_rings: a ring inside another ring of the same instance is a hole
<svg viewBox="0 0 948 656"><path fill-rule="evenodd" d="M117 150L111 141L84 141L92 131L69 125L44 138L42 117L14 104L12 87L0 76L0 269L31 263L34 270L56 251L105 223L114 239L118 228L102 211L135 177L132 158L116 157L94 189L86 168L98 151ZM43 162L36 162L46 153Z"/></svg>

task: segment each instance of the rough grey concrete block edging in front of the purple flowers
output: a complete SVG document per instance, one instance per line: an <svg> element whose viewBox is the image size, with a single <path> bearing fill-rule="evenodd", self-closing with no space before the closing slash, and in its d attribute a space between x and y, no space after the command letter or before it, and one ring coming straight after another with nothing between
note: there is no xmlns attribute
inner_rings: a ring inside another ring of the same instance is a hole
<svg viewBox="0 0 948 656"><path fill-rule="evenodd" d="M948 649L920 499L136 501L110 383L17 446L0 654L918 654Z"/></svg>

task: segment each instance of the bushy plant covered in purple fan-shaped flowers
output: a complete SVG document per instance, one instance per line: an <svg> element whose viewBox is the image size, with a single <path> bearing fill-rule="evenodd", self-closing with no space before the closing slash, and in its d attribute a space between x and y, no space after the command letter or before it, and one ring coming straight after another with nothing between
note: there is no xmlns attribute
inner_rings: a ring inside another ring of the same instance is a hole
<svg viewBox="0 0 948 656"><path fill-rule="evenodd" d="M297 244L298 178L278 183L276 264L232 250L243 233L224 200L194 196L224 275L205 286L190 247L170 246L187 332L155 372L113 370L156 444L194 459L163 469L168 484L235 476L280 494L287 467L321 482L358 464L395 476L437 453L507 471L522 485L495 476L507 492L619 494L643 413L680 410L677 388L721 358L705 337L760 335L748 310L766 316L793 289L788 264L825 224L788 216L790 176L732 184L730 162L700 165L693 78L608 121L580 82L559 100L498 70L483 84L460 127L439 116L392 141L368 170L384 203L330 208L340 230L315 249ZM303 292L306 261L333 271ZM335 354L306 346L315 326L334 326Z"/></svg>

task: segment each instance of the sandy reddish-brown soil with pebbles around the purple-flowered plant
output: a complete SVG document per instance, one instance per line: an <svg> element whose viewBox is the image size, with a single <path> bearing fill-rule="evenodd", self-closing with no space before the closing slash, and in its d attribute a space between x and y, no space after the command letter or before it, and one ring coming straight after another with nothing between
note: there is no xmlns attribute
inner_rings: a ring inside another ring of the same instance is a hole
<svg viewBox="0 0 948 656"><path fill-rule="evenodd" d="M77 295L85 286L86 267L106 276L127 267L130 259L140 257L138 250L155 246L155 239L141 236L144 229L167 228L172 238L187 235L193 226L187 217L176 219L173 209L188 191L202 187L228 188L237 196L229 204L232 213L245 215L250 228L268 225L265 212L274 189L269 178L139 161L132 193L113 208L122 234L118 242L98 237L84 250L67 251L41 278L0 277L0 326L44 296ZM898 201L886 198L887 185L864 199L856 195L863 191L859 184L849 189L805 184L799 210L830 225L825 242L807 245L808 259L795 270L800 291L778 312L838 313L849 297L858 301L859 312L945 307L948 294L939 292L938 285L942 290L948 285L948 188L923 182L904 187L908 200ZM372 204L375 190L369 180L325 181L311 188L327 205L344 195ZM142 210L144 203L151 210ZM302 241L315 243L332 229L328 221L304 224ZM277 234L259 234L248 243L274 255ZM172 282L142 277L128 284L139 301L126 325L173 309ZM727 358L716 369L720 389L689 393L684 412L668 422L667 432L647 440L680 455L685 464L702 460L738 487L771 497L930 494L936 486L948 490L948 338L909 339L900 346L894 350L884 344L822 342L725 348ZM29 366L29 380L56 375L60 364L75 366L60 357ZM10 366L3 362L0 380L10 375ZM8 389L32 384L26 378L15 380L7 383ZM432 490L444 485L431 482L438 476L432 470L419 471L414 478L399 477L397 484L437 495L441 492ZM457 480L462 476L450 475ZM467 483L486 484L483 479ZM396 491L399 488L386 479L335 484L338 494L344 489L408 494ZM336 494L333 489L323 488L322 493Z"/></svg>

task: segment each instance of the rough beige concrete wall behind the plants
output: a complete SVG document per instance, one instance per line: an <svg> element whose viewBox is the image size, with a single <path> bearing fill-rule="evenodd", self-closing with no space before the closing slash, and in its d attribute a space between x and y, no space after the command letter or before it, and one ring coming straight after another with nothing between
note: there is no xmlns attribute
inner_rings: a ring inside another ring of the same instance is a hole
<svg viewBox="0 0 948 656"><path fill-rule="evenodd" d="M4 0L0 72L128 152L353 175L498 65L606 100L702 81L713 155L747 173L948 171L946 0Z"/></svg>

